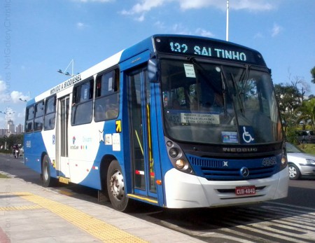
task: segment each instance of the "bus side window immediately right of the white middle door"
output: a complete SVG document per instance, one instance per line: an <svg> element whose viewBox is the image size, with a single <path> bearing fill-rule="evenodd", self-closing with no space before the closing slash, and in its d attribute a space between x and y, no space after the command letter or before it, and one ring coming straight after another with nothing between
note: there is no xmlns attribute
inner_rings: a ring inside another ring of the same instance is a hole
<svg viewBox="0 0 315 243"><path fill-rule="evenodd" d="M80 125L92 121L93 80L73 88L71 125Z"/></svg>

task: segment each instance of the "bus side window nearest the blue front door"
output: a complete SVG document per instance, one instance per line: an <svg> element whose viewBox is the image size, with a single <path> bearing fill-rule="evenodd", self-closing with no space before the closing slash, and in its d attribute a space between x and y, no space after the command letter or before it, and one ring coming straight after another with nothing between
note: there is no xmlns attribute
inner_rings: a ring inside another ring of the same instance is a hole
<svg viewBox="0 0 315 243"><path fill-rule="evenodd" d="M94 104L94 120L111 120L118 116L118 69L109 71L97 77Z"/></svg>

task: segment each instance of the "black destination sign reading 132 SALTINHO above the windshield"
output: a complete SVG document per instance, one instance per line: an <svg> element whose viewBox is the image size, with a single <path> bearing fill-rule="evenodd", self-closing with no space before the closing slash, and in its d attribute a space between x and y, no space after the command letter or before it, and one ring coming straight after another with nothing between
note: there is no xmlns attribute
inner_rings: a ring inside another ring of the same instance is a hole
<svg viewBox="0 0 315 243"><path fill-rule="evenodd" d="M211 57L265 66L262 56L255 50L210 39L158 36L155 38L155 48L161 53Z"/></svg>

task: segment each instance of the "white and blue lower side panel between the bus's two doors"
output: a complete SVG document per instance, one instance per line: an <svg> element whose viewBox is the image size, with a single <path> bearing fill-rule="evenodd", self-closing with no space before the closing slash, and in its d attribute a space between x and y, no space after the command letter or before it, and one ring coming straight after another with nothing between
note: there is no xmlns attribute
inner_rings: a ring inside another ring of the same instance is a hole
<svg viewBox="0 0 315 243"><path fill-rule="evenodd" d="M84 129L82 125L71 128L69 132L70 138L72 137L69 146L71 182L101 190L102 158L112 155L123 165L123 135L116 133L116 120L92 122Z"/></svg>

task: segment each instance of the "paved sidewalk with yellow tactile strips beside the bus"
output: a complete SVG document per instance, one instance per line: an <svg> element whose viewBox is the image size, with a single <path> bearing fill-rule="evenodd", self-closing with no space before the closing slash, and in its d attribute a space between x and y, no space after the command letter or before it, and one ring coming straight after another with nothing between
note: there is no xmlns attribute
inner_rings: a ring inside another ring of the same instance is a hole
<svg viewBox="0 0 315 243"><path fill-rule="evenodd" d="M202 241L36 183L0 178L0 242Z"/></svg>

